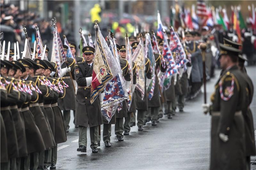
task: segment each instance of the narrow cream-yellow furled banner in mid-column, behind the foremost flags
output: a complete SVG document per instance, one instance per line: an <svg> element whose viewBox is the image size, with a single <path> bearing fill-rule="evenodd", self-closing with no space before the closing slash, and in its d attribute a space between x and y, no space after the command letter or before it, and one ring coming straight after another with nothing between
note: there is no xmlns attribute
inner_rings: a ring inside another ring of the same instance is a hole
<svg viewBox="0 0 256 170"><path fill-rule="evenodd" d="M144 98L145 89L145 55L144 55L144 45L142 39L132 54L132 61L137 67L137 81L136 88L141 92L141 98Z"/></svg>

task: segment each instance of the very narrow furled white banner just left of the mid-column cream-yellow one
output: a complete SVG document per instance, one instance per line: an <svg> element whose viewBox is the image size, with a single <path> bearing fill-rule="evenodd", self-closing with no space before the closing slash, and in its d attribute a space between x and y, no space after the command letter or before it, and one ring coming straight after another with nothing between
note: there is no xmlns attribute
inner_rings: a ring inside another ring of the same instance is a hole
<svg viewBox="0 0 256 170"><path fill-rule="evenodd" d="M128 89L128 100L127 100L127 109L129 110L132 104L132 94L133 94L133 69L132 69L132 51L131 51L131 45L130 45L130 41L129 41L129 37L126 36L125 37L125 46L126 46L126 60L128 61L129 64L129 70L130 70L130 75L131 75L131 81L130 81L130 85L129 85L129 89Z"/></svg>

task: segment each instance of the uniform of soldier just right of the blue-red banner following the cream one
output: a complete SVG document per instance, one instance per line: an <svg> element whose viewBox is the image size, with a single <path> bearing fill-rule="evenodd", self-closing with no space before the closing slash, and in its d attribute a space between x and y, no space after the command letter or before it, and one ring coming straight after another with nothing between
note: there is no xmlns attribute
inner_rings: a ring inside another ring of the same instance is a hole
<svg viewBox="0 0 256 170"><path fill-rule="evenodd" d="M163 66L161 63L161 57L160 54L155 54L155 61L156 61L156 70L159 68L162 73L166 70L166 67ZM154 73L156 74L156 72ZM148 99L148 117L152 119L152 126L156 126L157 116L159 112L159 108L161 107L161 101L160 101L160 89L158 84L158 79L155 79L155 88L153 97L151 100Z"/></svg>

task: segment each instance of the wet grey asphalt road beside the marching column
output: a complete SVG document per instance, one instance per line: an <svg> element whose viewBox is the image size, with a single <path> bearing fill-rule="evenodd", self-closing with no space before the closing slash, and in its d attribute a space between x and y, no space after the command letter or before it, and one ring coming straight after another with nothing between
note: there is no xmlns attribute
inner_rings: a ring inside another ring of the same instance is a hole
<svg viewBox="0 0 256 170"><path fill-rule="evenodd" d="M254 127L256 127L255 68L247 67L247 72L254 83L251 105ZM216 78L207 82L208 102L219 74L220 70L216 70ZM132 127L130 135L124 136L123 142L118 142L113 125L112 147L105 148L101 137L99 153L92 153L89 128L87 152L76 151L78 129L74 127L71 113L68 141L58 145L57 169L209 169L211 117L203 114L202 103L203 94L200 94L196 99L186 102L183 113L177 109L172 119L167 119L164 115L157 126L151 126L149 122L143 127L143 131L138 131L137 126Z"/></svg>

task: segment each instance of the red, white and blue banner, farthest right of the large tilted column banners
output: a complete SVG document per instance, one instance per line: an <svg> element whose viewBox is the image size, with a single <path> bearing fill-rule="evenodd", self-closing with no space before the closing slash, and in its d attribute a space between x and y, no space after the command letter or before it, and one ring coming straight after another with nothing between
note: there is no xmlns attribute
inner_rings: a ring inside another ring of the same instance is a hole
<svg viewBox="0 0 256 170"><path fill-rule="evenodd" d="M180 38L177 33L174 32L172 27L170 28L170 33L170 48L171 51L175 52L176 54L175 62L177 69L179 69L183 67L188 62L188 60L186 59L186 53L182 47Z"/></svg>

